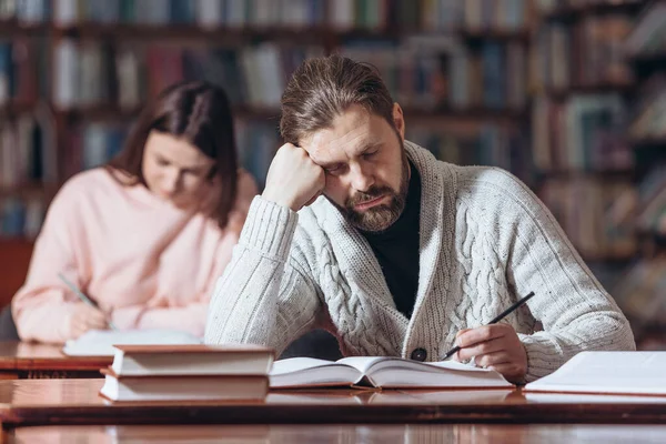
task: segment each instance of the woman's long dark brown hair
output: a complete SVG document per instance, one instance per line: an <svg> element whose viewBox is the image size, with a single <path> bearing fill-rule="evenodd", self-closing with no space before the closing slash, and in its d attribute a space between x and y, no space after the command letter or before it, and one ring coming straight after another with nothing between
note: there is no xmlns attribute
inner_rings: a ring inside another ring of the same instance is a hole
<svg viewBox="0 0 666 444"><path fill-rule="evenodd" d="M218 176L222 192L212 216L224 229L235 202L238 183L233 117L226 93L219 87L200 81L176 83L165 89L143 109L123 150L107 168L129 175L131 184L142 183L145 186L143 150L151 131L186 140L215 161L209 180Z"/></svg>

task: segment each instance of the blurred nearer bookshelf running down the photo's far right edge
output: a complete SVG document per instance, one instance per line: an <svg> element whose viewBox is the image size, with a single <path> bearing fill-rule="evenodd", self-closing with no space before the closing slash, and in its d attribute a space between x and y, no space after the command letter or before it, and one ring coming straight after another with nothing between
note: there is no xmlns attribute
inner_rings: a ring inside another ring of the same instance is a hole
<svg viewBox="0 0 666 444"><path fill-rule="evenodd" d="M626 39L626 60L637 88L626 138L636 163L635 228L638 255L623 273L615 296L639 347L666 350L666 2L653 0Z"/></svg>

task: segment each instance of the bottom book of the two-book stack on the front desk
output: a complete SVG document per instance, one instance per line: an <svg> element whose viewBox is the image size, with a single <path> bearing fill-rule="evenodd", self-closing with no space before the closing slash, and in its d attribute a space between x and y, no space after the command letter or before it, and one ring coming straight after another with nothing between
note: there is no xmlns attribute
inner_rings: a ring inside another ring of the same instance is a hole
<svg viewBox="0 0 666 444"><path fill-rule="evenodd" d="M263 400L269 379L236 376L120 376L102 369L104 385L100 395L110 401L229 401Z"/></svg>

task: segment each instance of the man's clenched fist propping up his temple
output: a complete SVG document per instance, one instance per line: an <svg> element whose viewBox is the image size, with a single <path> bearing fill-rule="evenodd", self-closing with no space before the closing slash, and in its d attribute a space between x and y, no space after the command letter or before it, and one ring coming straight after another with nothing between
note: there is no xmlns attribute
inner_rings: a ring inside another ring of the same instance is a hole
<svg viewBox="0 0 666 444"><path fill-rule="evenodd" d="M313 203L325 185L324 169L302 148L285 143L271 162L262 198L299 211Z"/></svg>

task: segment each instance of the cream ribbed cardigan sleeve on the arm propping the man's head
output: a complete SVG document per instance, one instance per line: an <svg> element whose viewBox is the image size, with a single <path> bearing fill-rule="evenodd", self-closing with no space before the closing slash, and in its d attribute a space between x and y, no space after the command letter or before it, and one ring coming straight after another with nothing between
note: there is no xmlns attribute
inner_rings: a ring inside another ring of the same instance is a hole
<svg viewBox="0 0 666 444"><path fill-rule="evenodd" d="M278 355L315 324L317 286L292 256L299 215L254 198L209 307L205 342L253 343Z"/></svg>

